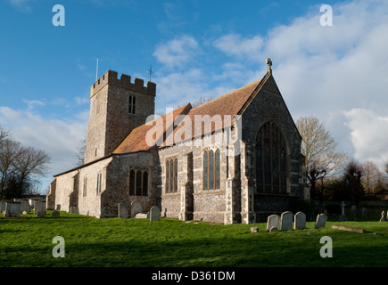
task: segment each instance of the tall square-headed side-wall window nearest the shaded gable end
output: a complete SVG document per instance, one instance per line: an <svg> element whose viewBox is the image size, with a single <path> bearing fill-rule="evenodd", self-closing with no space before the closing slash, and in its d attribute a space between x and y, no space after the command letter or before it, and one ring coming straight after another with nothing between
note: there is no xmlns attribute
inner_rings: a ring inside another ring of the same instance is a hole
<svg viewBox="0 0 388 285"><path fill-rule="evenodd" d="M219 189L219 150L203 152L203 190Z"/></svg>

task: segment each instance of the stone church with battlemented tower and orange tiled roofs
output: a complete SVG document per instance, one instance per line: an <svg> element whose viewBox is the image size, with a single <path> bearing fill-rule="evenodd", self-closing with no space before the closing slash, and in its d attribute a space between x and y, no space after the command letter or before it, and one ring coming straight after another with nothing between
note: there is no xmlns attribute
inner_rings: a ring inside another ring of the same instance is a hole
<svg viewBox="0 0 388 285"><path fill-rule="evenodd" d="M134 202L180 220L250 224L309 199L301 135L272 76L151 118L156 85L108 70L90 89L84 165L54 175L47 208L117 217Z"/></svg>

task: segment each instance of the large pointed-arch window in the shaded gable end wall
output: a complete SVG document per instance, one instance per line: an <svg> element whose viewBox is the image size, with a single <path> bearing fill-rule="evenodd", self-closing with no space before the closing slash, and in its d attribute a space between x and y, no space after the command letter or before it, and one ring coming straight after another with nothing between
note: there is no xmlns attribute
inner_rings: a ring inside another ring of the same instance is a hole
<svg viewBox="0 0 388 285"><path fill-rule="evenodd" d="M256 140L256 183L259 192L287 191L285 138L274 122L261 126Z"/></svg>

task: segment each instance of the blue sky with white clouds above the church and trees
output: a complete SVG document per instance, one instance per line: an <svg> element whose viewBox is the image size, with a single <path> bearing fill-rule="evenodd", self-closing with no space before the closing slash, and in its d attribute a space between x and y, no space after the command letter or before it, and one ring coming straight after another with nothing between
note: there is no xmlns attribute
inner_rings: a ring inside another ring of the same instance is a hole
<svg viewBox="0 0 388 285"><path fill-rule="evenodd" d="M152 64L157 113L252 83L270 57L295 120L318 117L360 162L388 160L386 1L1 0L0 25L0 125L49 153L45 183L77 163L97 57L99 76L145 81Z"/></svg>

